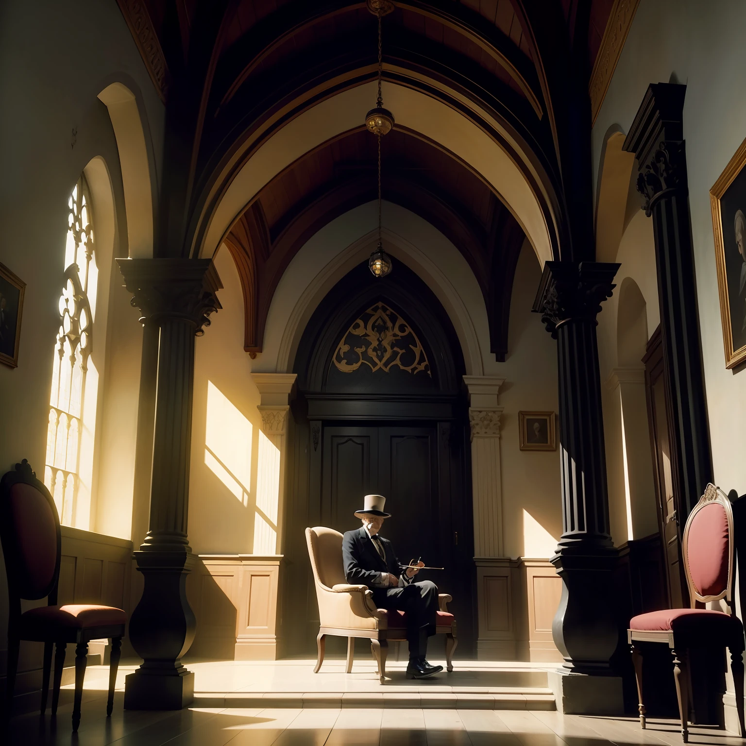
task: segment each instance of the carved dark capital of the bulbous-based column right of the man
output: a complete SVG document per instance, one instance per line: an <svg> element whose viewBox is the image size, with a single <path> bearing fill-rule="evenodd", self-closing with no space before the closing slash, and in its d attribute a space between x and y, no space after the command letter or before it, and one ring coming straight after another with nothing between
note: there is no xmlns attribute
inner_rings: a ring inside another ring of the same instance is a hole
<svg viewBox="0 0 746 746"><path fill-rule="evenodd" d="M619 266L611 262L545 263L533 312L542 314L542 323L554 339L557 329L568 322L596 325L601 303L611 298L616 287L612 280Z"/></svg>

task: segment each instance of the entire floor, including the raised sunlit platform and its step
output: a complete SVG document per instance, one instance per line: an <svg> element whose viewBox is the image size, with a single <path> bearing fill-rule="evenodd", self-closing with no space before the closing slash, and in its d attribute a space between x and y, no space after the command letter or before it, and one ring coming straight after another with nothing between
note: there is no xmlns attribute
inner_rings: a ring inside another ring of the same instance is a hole
<svg viewBox="0 0 746 746"><path fill-rule="evenodd" d="M321 674L313 674L312 663L192 663L189 668L195 671L196 705L179 712L125 711L124 677L134 665L123 665L111 718L106 718L107 668L92 666L86 674L78 736L71 733L72 686L68 685L63 687L56 718L48 714L40 718L38 713L18 715L10 722L9 737L2 734L0 743L3 746L6 743L12 746L680 746L682 743L680 724L675 721L653 718L648 721L648 730L641 730L636 718L580 717L548 709L545 671L535 664L462 661L454 671L455 676L442 674L416 682L404 678L404 664L395 663L392 678L382 687L367 661L356 663L352 674L345 674L344 662L334 660L325 662ZM245 706L246 702L256 706ZM358 706L361 702L365 705ZM744 740L715 727L692 727L689 742L746 746Z"/></svg>

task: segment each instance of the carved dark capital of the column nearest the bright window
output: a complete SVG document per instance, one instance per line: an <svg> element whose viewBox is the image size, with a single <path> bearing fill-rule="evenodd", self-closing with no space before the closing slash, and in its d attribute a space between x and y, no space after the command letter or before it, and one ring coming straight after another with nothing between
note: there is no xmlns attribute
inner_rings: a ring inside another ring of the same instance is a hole
<svg viewBox="0 0 746 746"><path fill-rule="evenodd" d="M222 282L211 259L117 259L131 305L142 311L141 322L181 319L195 334L210 325L207 317L221 308Z"/></svg>

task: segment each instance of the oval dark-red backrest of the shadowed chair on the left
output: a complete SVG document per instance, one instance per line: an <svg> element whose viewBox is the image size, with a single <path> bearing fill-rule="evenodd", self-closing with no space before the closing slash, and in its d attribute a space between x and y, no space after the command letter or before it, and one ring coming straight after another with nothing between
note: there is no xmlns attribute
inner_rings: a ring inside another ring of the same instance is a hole
<svg viewBox="0 0 746 746"><path fill-rule="evenodd" d="M57 603L60 518L48 489L27 460L0 480L0 541L11 598Z"/></svg>

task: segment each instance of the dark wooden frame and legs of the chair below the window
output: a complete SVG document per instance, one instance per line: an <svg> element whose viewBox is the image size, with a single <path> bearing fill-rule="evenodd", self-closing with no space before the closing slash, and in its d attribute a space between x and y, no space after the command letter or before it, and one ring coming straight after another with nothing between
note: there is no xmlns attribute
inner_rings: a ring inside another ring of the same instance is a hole
<svg viewBox="0 0 746 746"><path fill-rule="evenodd" d="M43 592L31 597L22 596L16 582L19 576L19 568L16 558L19 556L17 536L9 530L10 521L7 520L7 499L10 488L16 484L28 484L37 492L40 492L49 504L57 530L57 559L54 565L54 574L49 585ZM44 643L44 667L42 675L42 701L41 714L46 712L47 696L49 691L49 675L51 672L52 646L56 647L54 655L54 683L51 698L51 714L57 714L57 703L60 698L60 684L62 683L62 669L65 663L65 651L69 642L75 642L75 700L72 707L72 730L77 731L81 721L81 698L83 696L83 680L86 672L88 643L91 640L111 638L111 655L109 665L109 695L107 698L106 714L111 715L114 703L114 686L116 684L116 671L119 668L119 656L122 648L122 637L125 634L125 625L116 624L105 627L86 627L82 630L75 628L60 630L60 635L54 639L34 639L24 636L22 630L21 600L38 601L47 598L48 606L57 606L57 587L60 581L60 559L62 555L62 536L60 533L60 517L57 515L57 506L49 494L44 483L37 479L36 472L31 469L27 460L16 464L15 471L7 471L0 480L0 541L2 542L5 557L5 570L7 573L8 598L10 611L8 614L7 627L7 684L6 684L6 718L10 718L13 706L13 691L16 684L16 669L18 667L18 653L22 640L29 642Z"/></svg>

